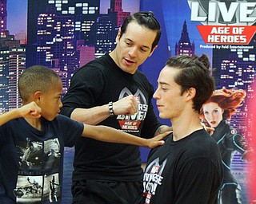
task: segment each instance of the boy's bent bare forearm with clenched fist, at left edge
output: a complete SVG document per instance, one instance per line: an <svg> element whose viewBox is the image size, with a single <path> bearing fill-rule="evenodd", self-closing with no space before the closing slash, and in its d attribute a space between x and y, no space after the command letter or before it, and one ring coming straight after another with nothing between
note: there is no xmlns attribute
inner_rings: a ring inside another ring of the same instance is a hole
<svg viewBox="0 0 256 204"><path fill-rule="evenodd" d="M23 105L21 108L15 108L10 112L2 114L0 116L0 126L18 117L39 118L41 116L40 112L41 108L34 101L30 102L30 104Z"/></svg>

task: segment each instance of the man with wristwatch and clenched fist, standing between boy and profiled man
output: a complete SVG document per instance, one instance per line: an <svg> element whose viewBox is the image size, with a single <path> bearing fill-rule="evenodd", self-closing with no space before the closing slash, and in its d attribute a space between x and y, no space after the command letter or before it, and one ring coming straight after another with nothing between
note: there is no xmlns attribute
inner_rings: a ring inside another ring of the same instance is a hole
<svg viewBox="0 0 256 204"><path fill-rule="evenodd" d="M138 66L154 53L161 36L152 12L124 21L116 48L78 69L64 96L62 114L85 124L103 124L150 138L170 128L159 123L154 88ZM73 203L134 203L142 194L138 147L79 139L75 145Z"/></svg>

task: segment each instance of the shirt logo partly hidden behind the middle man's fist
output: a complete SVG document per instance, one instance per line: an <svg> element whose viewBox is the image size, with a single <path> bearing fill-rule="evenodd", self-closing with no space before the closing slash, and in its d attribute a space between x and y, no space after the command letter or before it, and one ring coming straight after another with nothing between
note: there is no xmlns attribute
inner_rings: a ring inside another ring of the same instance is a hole
<svg viewBox="0 0 256 204"><path fill-rule="evenodd" d="M133 95L132 92L128 88L123 88L122 92L119 95L119 99ZM137 90L137 92L134 93L134 97L138 103L138 112L136 112L132 116L126 116L126 115L118 115L117 120L120 124L120 128L123 131L133 131L138 132L139 125L141 124L142 120L145 120L146 112L148 110L148 104L146 101L146 97L143 95L141 90Z"/></svg>

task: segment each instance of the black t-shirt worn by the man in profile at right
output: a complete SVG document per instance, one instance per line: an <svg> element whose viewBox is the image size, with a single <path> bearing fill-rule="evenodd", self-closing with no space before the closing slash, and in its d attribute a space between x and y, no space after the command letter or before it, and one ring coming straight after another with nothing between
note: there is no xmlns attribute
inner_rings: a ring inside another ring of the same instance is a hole
<svg viewBox="0 0 256 204"><path fill-rule="evenodd" d="M217 143L205 130L178 141L170 134L150 152L140 203L217 203L222 174Z"/></svg>

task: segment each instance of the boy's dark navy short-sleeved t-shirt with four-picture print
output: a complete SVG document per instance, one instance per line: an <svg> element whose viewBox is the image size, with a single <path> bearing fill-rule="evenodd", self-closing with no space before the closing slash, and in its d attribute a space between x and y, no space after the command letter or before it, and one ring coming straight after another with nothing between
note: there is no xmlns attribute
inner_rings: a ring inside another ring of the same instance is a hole
<svg viewBox="0 0 256 204"><path fill-rule="evenodd" d="M42 131L23 118L0 127L0 203L60 203L64 147L74 146L83 124L41 121Z"/></svg>

